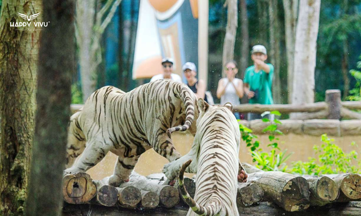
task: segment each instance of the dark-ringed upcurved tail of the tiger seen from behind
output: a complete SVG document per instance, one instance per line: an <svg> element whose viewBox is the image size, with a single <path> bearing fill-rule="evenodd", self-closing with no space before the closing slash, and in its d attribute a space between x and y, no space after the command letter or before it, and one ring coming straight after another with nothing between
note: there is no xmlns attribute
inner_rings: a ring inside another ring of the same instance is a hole
<svg viewBox="0 0 361 216"><path fill-rule="evenodd" d="M179 189L181 190L182 197L184 199L184 202L188 204L188 206L198 215L217 215L221 211L221 206L218 202L212 202L208 206L200 206L198 203L196 203L192 197L188 194L186 187L183 184L183 175L184 171L186 171L186 168L191 164L192 160L187 161L182 165L181 170L179 170Z"/></svg>

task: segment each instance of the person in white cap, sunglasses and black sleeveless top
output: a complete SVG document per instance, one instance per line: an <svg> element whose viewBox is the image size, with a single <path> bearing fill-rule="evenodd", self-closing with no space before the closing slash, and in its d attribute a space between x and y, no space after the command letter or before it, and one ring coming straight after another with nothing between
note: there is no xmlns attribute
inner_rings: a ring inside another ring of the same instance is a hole
<svg viewBox="0 0 361 216"><path fill-rule="evenodd" d="M196 78L196 65L193 62L186 62L183 64L182 71L187 79L188 87L194 92L197 98L202 98L205 102L208 102L205 96L205 83L203 80L197 80Z"/></svg>

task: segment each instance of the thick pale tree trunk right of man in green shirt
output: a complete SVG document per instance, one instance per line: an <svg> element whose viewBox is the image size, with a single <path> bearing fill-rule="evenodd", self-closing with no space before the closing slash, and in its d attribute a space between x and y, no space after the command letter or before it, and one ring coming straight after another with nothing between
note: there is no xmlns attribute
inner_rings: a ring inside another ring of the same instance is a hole
<svg viewBox="0 0 361 216"><path fill-rule="evenodd" d="M292 104L314 102L316 41L321 0L300 1L296 28Z"/></svg>

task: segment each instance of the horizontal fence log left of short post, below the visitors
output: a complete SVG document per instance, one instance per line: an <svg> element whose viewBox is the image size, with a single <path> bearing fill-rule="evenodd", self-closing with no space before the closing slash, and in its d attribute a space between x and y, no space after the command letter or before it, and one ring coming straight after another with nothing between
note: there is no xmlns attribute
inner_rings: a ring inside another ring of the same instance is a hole
<svg viewBox="0 0 361 216"><path fill-rule="evenodd" d="M263 113L266 111L292 112L318 112L327 109L326 102L310 104L240 104L233 107L235 112Z"/></svg>

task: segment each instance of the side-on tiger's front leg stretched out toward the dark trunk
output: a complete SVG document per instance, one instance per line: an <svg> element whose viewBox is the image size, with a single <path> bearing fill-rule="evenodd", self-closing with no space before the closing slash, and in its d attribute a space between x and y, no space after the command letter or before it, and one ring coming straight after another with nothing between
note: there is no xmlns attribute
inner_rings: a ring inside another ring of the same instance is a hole
<svg viewBox="0 0 361 216"><path fill-rule="evenodd" d="M74 165L64 170L65 173L85 172L99 163L110 150L110 145L100 141L90 141Z"/></svg>

